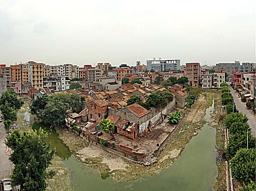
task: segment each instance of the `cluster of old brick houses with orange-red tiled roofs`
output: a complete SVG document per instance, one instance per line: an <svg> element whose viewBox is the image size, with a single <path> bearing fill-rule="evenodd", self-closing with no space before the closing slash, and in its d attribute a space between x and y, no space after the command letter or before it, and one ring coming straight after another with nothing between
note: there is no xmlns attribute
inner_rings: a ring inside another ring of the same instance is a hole
<svg viewBox="0 0 256 191"><path fill-rule="evenodd" d="M168 103L167 106L158 109L153 108L147 110L137 103L127 105L127 100L132 95L136 95L143 102L146 102L150 94L163 90L165 88L158 85L146 87L138 83L134 83L133 85L127 83L113 91L109 91L108 89L98 91L98 89L93 87L90 89L81 89L80 91L75 90L80 96L85 97L85 101L82 104L80 112L68 114L66 126L71 127L71 122L75 122L82 129L84 135L97 134L98 130L100 130L99 124L104 118L114 123L116 133L130 139L136 139L153 130L174 107L184 107L186 88L178 84L168 88L168 91L174 94L173 101Z"/></svg>

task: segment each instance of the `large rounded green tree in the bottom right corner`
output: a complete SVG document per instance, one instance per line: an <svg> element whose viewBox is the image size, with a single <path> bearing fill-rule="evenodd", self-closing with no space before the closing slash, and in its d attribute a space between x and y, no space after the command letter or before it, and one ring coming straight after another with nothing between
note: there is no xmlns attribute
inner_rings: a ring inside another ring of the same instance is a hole
<svg viewBox="0 0 256 191"><path fill-rule="evenodd" d="M241 148L230 160L232 176L246 185L255 180L255 148Z"/></svg>

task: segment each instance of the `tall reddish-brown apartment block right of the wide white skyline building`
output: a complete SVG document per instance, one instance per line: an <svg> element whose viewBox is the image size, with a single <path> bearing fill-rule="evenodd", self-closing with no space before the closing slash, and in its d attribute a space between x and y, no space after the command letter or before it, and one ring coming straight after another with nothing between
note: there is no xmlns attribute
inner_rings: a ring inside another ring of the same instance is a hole
<svg viewBox="0 0 256 191"><path fill-rule="evenodd" d="M186 63L185 76L188 77L190 86L199 86L201 67L200 63Z"/></svg>

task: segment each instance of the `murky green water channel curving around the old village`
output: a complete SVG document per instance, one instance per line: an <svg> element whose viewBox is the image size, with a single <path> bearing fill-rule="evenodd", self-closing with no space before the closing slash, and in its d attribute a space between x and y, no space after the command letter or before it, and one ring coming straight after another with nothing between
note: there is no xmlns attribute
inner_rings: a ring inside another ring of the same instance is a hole
<svg viewBox="0 0 256 191"><path fill-rule="evenodd" d="M211 119L212 104L206 109L204 119ZM216 166L216 129L204 124L198 135L190 140L181 156L174 161L169 169L161 170L153 176L137 177L136 181L115 181L113 178L102 180L100 173L88 168L72 155L69 148L58 138L55 129L43 124L34 124L33 128L44 128L49 134L48 141L56 148L56 154L63 158L63 164L71 174L74 190L213 190L217 177Z"/></svg>

